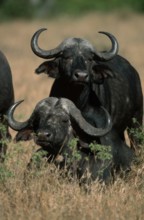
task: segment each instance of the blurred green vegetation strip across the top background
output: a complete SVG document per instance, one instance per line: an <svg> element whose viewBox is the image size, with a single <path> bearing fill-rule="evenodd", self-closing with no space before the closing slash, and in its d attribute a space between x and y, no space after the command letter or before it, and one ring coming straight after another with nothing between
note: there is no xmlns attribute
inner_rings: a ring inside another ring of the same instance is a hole
<svg viewBox="0 0 144 220"><path fill-rule="evenodd" d="M79 16L92 11L133 10L144 12L144 0L1 0L0 19Z"/></svg>

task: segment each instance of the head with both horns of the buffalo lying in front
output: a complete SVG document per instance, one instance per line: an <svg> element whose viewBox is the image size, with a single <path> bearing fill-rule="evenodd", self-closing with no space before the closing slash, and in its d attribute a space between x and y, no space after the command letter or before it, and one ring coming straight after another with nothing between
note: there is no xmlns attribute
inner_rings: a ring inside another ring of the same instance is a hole
<svg viewBox="0 0 144 220"><path fill-rule="evenodd" d="M15 108L21 103L19 101L12 105L8 111L9 126L19 131L21 139L24 131L34 133L34 140L37 145L45 150L58 152L60 147L68 142L72 133L87 137L99 137L108 133L112 127L108 112L102 108L106 118L105 128L95 128L82 117L81 112L68 99L54 97L40 101L30 118L25 122L18 122L14 119Z"/></svg>

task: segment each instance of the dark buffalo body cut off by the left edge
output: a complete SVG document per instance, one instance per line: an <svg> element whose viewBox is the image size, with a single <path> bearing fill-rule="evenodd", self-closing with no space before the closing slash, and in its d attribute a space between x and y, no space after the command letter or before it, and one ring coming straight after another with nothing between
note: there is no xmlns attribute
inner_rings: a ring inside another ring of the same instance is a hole
<svg viewBox="0 0 144 220"><path fill-rule="evenodd" d="M9 63L0 51L0 161L6 153L6 141L11 137L5 117L9 107L14 103L14 90Z"/></svg>

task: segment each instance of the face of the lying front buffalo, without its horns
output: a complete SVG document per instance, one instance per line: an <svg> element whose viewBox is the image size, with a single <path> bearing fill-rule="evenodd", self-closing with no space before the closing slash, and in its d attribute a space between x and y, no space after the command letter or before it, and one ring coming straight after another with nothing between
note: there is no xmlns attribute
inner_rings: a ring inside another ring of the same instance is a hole
<svg viewBox="0 0 144 220"><path fill-rule="evenodd" d="M57 154L71 130L69 116L63 109L56 108L46 115L40 114L37 118L33 121L35 143L44 150Z"/></svg>

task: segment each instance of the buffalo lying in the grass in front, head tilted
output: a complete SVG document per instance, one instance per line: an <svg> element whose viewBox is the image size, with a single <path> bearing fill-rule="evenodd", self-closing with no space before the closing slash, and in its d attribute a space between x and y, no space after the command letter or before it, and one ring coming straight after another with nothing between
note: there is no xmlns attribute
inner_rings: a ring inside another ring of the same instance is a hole
<svg viewBox="0 0 144 220"><path fill-rule="evenodd" d="M133 152L111 130L110 115L103 107L100 111L105 125L103 128L96 128L83 118L72 101L65 98L43 99L25 122L18 122L13 116L20 103L21 101L16 102L8 111L9 126L18 131L19 140L25 139L26 131L29 134L31 132L35 143L41 146L38 152L46 151L48 162L54 162L61 169L67 167L72 177L88 182L98 178L107 183L114 170L130 169ZM91 144L102 136L111 146L99 145L99 149L95 148L93 151ZM75 138L78 140L76 146L70 147L70 142ZM103 157L99 156L101 153Z"/></svg>

